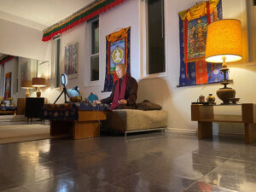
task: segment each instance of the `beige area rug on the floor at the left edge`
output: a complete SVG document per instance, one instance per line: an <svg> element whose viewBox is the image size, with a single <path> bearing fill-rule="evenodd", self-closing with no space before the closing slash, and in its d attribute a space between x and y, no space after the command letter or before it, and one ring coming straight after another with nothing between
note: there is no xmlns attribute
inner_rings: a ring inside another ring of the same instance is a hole
<svg viewBox="0 0 256 192"><path fill-rule="evenodd" d="M0 125L0 144L51 138L49 125Z"/></svg>

